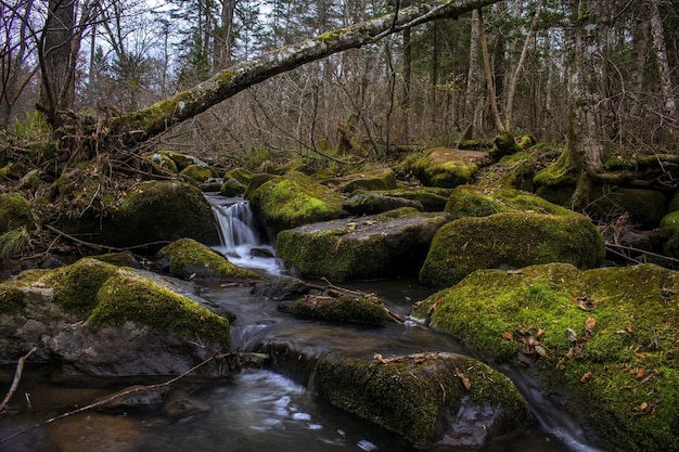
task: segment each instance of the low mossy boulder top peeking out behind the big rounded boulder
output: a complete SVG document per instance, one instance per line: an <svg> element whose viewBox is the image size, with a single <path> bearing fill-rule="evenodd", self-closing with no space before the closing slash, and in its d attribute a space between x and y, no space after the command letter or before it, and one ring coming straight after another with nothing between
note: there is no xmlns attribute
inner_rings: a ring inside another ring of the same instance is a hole
<svg viewBox="0 0 679 452"><path fill-rule="evenodd" d="M478 185L456 188L446 203L447 214L458 217L487 217L507 211L530 211L551 215L573 215L572 210L550 203L531 193L514 189L490 189Z"/></svg>

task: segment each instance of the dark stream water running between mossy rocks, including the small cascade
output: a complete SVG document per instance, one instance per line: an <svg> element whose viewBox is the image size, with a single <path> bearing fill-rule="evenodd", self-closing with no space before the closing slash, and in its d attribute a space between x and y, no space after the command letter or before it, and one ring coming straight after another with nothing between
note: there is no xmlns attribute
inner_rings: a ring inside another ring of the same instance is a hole
<svg viewBox="0 0 679 452"><path fill-rule="evenodd" d="M236 204L229 203L232 205ZM239 218L232 216L226 223L240 228L249 221L241 217L247 205L235 209L241 210ZM252 225L247 228L256 230ZM260 238L262 235L255 234L254 242L242 242L245 235L242 231L233 234L226 231L220 250L230 259L238 255L243 266L249 263L247 267L273 275L284 274L272 255L252 256L252 249L269 249ZM405 280L357 283L351 288L375 292L392 311L402 315L409 313L412 302L431 293ZM266 369L243 371L222 382L180 385L180 392L193 406L193 411L182 415L167 409L129 413L88 411L4 440L123 387L120 382L102 380L59 385L36 370L22 379L16 392L25 399L17 406L22 414L0 418L0 452L414 451L395 435L316 397L315 362L331 352L368 358L373 353L384 357L422 351L465 353L464 347L450 337L410 322L372 327L296 319L281 313L278 301L253 296L248 287L208 287L202 296L236 314L231 327L233 349L270 353ZM521 375L510 376L534 409L536 423L518 438L497 441L482 452L594 451L562 409L550 404ZM2 378L5 379L11 378ZM9 384L0 385L0 395L8 387Z"/></svg>

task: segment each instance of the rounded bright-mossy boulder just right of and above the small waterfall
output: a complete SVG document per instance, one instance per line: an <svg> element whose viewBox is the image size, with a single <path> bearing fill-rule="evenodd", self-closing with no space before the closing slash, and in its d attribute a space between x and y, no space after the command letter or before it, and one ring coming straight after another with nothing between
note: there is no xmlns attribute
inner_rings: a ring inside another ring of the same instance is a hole
<svg viewBox="0 0 679 452"><path fill-rule="evenodd" d="M342 196L297 171L262 183L247 198L257 218L272 232L344 215Z"/></svg>

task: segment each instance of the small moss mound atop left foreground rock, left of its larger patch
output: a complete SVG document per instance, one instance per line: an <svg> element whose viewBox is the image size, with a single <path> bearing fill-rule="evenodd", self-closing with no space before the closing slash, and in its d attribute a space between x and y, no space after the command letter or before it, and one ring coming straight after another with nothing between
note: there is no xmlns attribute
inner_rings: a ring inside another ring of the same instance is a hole
<svg viewBox="0 0 679 452"><path fill-rule="evenodd" d="M97 306L97 293L118 268L102 260L84 258L64 268L55 281L54 301L68 312L89 315Z"/></svg>

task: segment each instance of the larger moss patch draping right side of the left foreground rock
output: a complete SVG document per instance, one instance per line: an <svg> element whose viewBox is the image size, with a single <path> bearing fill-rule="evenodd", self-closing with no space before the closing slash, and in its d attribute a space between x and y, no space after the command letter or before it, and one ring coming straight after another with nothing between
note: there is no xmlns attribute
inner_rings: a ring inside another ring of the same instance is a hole
<svg viewBox="0 0 679 452"><path fill-rule="evenodd" d="M101 286L97 298L99 304L88 320L92 328L134 322L229 350L227 319L144 277L117 272Z"/></svg>

